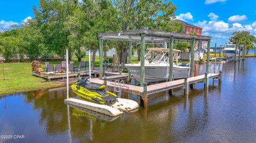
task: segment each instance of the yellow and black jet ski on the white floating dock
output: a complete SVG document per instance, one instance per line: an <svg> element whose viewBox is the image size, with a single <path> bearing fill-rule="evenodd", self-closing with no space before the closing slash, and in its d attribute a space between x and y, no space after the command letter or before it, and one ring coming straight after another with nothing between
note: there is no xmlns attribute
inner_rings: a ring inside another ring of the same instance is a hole
<svg viewBox="0 0 256 143"><path fill-rule="evenodd" d="M70 89L78 96L91 100L92 102L99 104L110 104L116 102L117 96L110 91L106 91L105 85L97 85L91 83L87 78L80 78L74 85L70 86Z"/></svg>

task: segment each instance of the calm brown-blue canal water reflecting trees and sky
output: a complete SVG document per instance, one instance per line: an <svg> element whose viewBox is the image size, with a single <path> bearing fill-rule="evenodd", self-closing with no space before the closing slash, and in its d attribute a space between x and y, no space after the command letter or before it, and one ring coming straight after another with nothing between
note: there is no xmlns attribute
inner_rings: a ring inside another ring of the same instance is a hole
<svg viewBox="0 0 256 143"><path fill-rule="evenodd" d="M2 96L0 135L25 139L0 142L256 142L256 59L228 62L222 71L221 87L210 81L208 92L203 83L189 96L161 92L148 108L117 119L67 107L65 88Z"/></svg>

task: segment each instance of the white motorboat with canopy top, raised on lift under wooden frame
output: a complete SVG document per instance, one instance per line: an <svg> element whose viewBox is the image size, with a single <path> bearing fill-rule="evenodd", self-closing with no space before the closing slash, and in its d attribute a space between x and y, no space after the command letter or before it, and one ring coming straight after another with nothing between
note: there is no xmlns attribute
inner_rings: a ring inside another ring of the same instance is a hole
<svg viewBox="0 0 256 143"><path fill-rule="evenodd" d="M173 49L173 78L188 77L189 64L178 63L179 50ZM133 77L140 81L140 62L125 64ZM169 48L148 48L145 55L145 82L161 82L169 79Z"/></svg>

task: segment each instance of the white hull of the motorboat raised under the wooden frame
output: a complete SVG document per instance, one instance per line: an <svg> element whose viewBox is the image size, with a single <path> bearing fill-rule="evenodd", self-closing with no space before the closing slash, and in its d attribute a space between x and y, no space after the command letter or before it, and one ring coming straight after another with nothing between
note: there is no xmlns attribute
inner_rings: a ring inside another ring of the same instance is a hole
<svg viewBox="0 0 256 143"><path fill-rule="evenodd" d="M125 64L126 68L131 71L133 77L140 81L140 64ZM168 70L167 70L168 68ZM160 82L169 79L169 66L167 64L146 64L145 81ZM189 67L173 65L173 78L181 79L188 77Z"/></svg>

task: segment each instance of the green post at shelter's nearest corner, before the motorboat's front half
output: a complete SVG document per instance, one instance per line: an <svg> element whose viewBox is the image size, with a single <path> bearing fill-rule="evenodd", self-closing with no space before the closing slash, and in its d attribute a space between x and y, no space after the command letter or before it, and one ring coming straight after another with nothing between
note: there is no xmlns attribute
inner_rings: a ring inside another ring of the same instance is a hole
<svg viewBox="0 0 256 143"><path fill-rule="evenodd" d="M145 33L141 34L141 49L140 49L140 86L145 82Z"/></svg>

